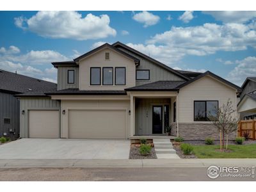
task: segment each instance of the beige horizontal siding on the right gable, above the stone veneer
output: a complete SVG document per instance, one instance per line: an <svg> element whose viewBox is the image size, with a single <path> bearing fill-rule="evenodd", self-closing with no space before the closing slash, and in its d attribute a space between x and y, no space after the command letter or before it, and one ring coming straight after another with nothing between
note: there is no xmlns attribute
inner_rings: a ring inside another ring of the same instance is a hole
<svg viewBox="0 0 256 192"><path fill-rule="evenodd" d="M234 109L237 105L236 90L209 76L181 88L178 97L179 123L202 123L194 122L194 100L218 100L221 106L231 99Z"/></svg>

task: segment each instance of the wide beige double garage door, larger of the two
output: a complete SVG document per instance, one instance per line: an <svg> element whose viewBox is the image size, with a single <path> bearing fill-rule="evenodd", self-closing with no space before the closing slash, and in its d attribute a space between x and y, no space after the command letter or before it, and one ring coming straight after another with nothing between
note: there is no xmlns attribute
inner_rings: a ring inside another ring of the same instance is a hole
<svg viewBox="0 0 256 192"><path fill-rule="evenodd" d="M125 110L70 110L68 138L125 139Z"/></svg>

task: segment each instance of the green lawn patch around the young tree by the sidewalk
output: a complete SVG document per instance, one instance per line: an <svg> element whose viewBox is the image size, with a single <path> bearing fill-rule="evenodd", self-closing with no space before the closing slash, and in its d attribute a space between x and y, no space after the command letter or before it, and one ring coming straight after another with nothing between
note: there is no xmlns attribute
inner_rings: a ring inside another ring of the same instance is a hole
<svg viewBox="0 0 256 192"><path fill-rule="evenodd" d="M220 152L220 145L193 145L194 154L198 158L256 158L256 144L228 145L232 152Z"/></svg>

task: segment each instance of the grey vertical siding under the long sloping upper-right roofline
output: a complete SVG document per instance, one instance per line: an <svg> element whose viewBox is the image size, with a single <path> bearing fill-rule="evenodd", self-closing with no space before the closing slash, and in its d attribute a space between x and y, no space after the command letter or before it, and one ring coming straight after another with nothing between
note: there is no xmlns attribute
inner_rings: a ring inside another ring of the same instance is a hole
<svg viewBox="0 0 256 192"><path fill-rule="evenodd" d="M138 58L140 60L140 65L136 67L136 69L149 69L150 70L150 79L149 80L136 80L136 86L141 84L147 84L152 83L155 81L184 81L182 77L179 77L169 70L166 70L163 67L160 67L159 65L156 65L156 63L153 63L152 61L146 60L145 58L138 56L137 54L134 54L133 52L127 51L127 49L118 48L124 52L127 52L128 54L131 54L132 56Z"/></svg>

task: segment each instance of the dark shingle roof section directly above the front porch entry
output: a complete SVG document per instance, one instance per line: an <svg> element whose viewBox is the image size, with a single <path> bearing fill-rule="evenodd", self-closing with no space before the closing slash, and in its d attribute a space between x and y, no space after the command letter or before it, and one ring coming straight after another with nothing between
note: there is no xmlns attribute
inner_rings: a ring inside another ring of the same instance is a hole
<svg viewBox="0 0 256 192"><path fill-rule="evenodd" d="M151 92L159 92L159 91L175 91L178 90L177 86L185 83L186 81L156 81L153 83L142 84L140 86L134 86L131 88L125 89L127 92L139 92L139 91L151 91Z"/></svg>

